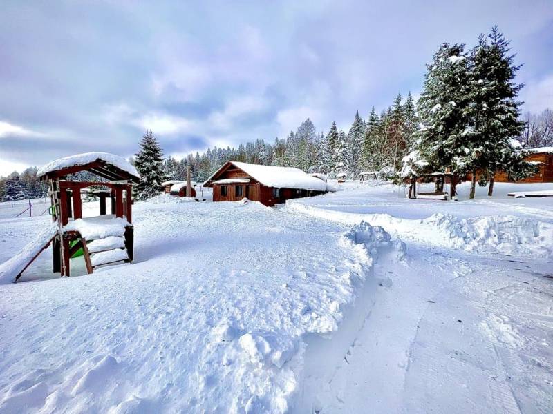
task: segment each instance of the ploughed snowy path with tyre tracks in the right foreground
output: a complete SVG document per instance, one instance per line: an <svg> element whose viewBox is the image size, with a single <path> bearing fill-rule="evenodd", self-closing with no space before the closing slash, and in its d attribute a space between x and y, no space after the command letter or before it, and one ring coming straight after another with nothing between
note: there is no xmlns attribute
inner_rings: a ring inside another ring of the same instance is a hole
<svg viewBox="0 0 553 414"><path fill-rule="evenodd" d="M343 199L330 215L324 197L285 210L353 224L367 217L348 213L359 201L358 195ZM315 342L316 355L321 348L341 352L321 359L326 372L308 378L319 392L302 408L311 404L322 414L360 407L364 413L550 413L550 258L467 253L418 242L408 226L386 229L411 240L406 259L398 261L393 252L378 257L374 304L369 312L359 309L366 319L356 335L347 333L345 346L341 330L328 344ZM515 252L528 253L513 243ZM309 355L308 346L306 361Z"/></svg>

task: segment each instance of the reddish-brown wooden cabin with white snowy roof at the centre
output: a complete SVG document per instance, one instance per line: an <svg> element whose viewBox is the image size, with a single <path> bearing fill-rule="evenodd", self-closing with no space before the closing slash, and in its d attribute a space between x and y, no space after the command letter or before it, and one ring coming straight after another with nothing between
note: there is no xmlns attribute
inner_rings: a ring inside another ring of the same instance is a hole
<svg viewBox="0 0 553 414"><path fill-rule="evenodd" d="M213 188L213 201L259 201L265 206L288 199L328 193L326 183L298 168L227 161L203 184Z"/></svg>

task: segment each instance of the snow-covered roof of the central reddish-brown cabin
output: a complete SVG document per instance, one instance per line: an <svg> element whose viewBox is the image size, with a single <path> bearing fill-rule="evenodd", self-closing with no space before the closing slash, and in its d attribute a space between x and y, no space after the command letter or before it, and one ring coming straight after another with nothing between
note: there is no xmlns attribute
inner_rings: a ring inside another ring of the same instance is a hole
<svg viewBox="0 0 553 414"><path fill-rule="evenodd" d="M264 186L274 188L298 188L301 190L327 191L326 183L321 179L311 177L299 168L261 166L257 164L247 164L245 162L229 161L232 165L240 168L247 175L259 181ZM214 175L205 181L207 186L216 177L222 168L219 168Z"/></svg>

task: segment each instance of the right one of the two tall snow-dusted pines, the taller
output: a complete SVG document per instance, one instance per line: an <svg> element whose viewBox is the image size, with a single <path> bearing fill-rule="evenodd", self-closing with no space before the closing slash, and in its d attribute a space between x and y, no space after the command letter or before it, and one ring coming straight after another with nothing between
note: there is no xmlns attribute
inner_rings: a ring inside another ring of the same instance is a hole
<svg viewBox="0 0 553 414"><path fill-rule="evenodd" d="M514 55L509 55L509 41L497 27L486 37L480 36L471 51L470 137L479 147L479 184L485 186L489 182L489 196L494 191L496 172L503 170L523 178L536 171L519 154L520 146L512 145L524 130L521 103L516 101L522 85L514 83L519 68L514 64ZM474 190L473 180L471 198Z"/></svg>

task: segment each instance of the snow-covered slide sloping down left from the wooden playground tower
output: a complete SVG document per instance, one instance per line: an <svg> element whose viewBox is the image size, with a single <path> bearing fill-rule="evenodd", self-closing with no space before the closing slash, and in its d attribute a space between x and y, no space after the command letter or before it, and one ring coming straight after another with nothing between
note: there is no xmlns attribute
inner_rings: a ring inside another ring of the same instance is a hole
<svg viewBox="0 0 553 414"><path fill-rule="evenodd" d="M42 233L29 242L17 255L0 264L0 283L15 282L19 273L23 272L29 264L44 250L53 237L57 234L57 224L50 223Z"/></svg>

